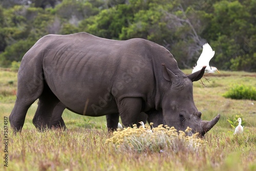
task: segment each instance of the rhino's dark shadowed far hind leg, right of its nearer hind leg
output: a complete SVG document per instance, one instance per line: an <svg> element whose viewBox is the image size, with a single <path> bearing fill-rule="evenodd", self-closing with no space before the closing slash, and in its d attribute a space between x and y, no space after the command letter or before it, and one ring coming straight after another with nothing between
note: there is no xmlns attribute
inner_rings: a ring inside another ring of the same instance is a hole
<svg viewBox="0 0 256 171"><path fill-rule="evenodd" d="M50 128L52 113L58 102L59 99L52 93L47 84L45 84L44 91L39 97L37 110L33 118L33 124L37 129L44 130Z"/></svg>

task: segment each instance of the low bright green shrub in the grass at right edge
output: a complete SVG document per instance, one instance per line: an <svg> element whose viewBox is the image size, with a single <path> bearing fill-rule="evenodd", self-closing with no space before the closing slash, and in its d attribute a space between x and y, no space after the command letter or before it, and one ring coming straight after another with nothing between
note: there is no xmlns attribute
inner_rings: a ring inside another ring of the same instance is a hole
<svg viewBox="0 0 256 171"><path fill-rule="evenodd" d="M225 94L223 94L223 97L256 100L256 89L252 86L234 84Z"/></svg>

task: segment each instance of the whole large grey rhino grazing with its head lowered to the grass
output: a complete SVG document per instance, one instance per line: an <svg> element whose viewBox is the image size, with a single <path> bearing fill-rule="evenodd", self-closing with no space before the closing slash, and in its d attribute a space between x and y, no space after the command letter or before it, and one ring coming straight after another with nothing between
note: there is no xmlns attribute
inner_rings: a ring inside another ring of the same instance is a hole
<svg viewBox="0 0 256 171"><path fill-rule="evenodd" d="M177 130L189 126L204 135L220 118L202 121L195 106L192 82L204 70L185 75L168 50L145 39L47 35L20 63L10 124L21 131L29 106L39 98L33 119L38 129L50 126L61 102L86 116L119 113L124 126L137 123L141 112L162 115L165 124Z"/></svg>

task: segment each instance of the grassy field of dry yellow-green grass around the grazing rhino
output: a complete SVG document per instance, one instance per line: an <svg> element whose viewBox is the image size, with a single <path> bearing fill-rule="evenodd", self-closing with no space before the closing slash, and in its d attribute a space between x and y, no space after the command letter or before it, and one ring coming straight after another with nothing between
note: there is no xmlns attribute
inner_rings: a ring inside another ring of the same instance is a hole
<svg viewBox="0 0 256 171"><path fill-rule="evenodd" d="M183 71L189 74L190 70ZM122 151L105 140L105 117L85 117L65 110L62 117L67 131L36 131L32 118L35 102L28 111L22 134L14 136L8 120L8 153L5 152L5 117L15 102L17 73L0 69L0 170L256 170L256 101L222 97L234 84L256 87L256 73L225 72L210 76L202 87L194 82L194 100L203 120L221 114L219 122L206 134L199 151L160 152ZM227 119L242 115L243 135L232 135ZM3 145L4 144L4 145ZM8 154L8 167L5 155Z"/></svg>

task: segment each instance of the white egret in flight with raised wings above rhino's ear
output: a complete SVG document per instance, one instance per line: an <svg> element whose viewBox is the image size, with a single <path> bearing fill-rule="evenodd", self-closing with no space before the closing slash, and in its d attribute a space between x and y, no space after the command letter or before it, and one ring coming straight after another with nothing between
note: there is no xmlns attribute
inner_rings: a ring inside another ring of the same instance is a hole
<svg viewBox="0 0 256 171"><path fill-rule="evenodd" d="M212 51L210 45L208 43L203 45L203 51L200 57L197 60L197 65L194 67L192 73L200 71L204 66L205 68L205 74L212 74L215 71L220 73L216 67L210 67L209 62L212 57L214 57L215 51Z"/></svg>

